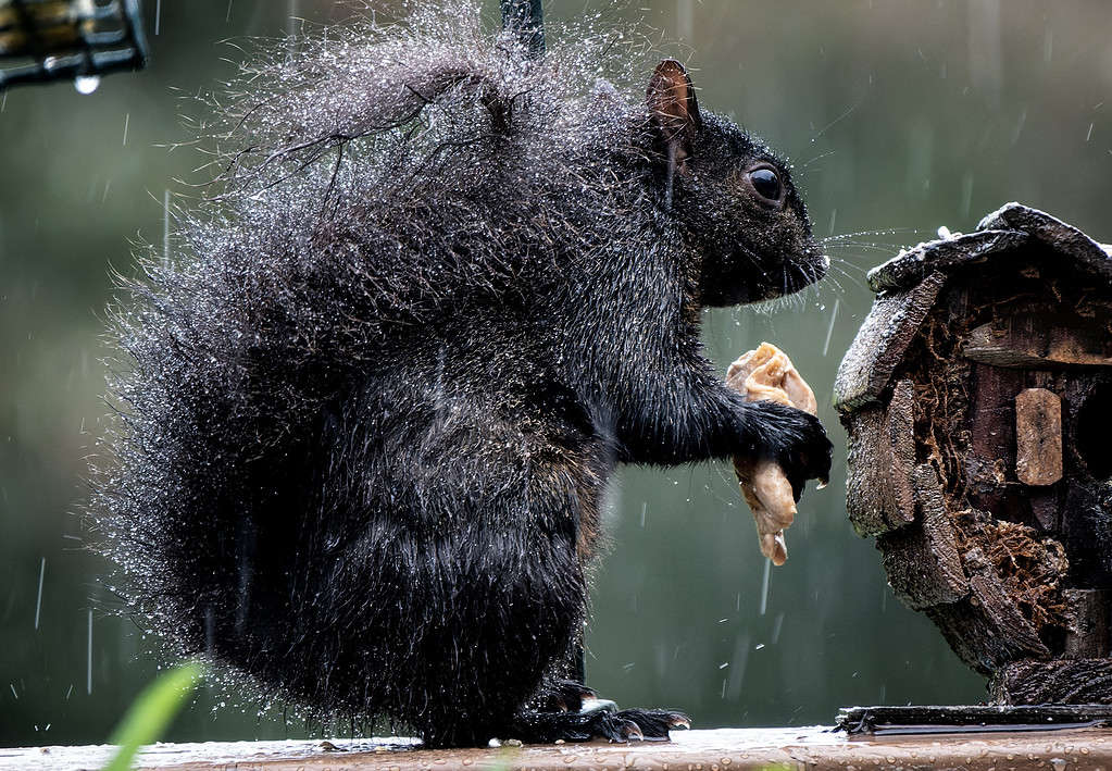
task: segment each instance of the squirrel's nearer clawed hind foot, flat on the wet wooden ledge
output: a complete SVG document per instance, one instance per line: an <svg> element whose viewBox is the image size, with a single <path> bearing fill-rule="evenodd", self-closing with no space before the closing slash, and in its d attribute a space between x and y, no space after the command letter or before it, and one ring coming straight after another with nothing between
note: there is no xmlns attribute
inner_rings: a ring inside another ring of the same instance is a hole
<svg viewBox="0 0 1112 771"><path fill-rule="evenodd" d="M691 719L674 710L594 710L588 712L524 712L513 735L525 743L587 742L594 739L624 744L667 741L668 731L691 728Z"/></svg>

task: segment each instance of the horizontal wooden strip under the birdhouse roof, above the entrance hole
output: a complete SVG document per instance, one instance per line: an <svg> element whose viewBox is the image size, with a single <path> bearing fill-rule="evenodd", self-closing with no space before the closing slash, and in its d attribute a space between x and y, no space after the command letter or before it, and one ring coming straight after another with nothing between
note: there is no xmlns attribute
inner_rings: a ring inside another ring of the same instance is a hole
<svg viewBox="0 0 1112 771"><path fill-rule="evenodd" d="M962 356L995 367L1112 366L1103 325L1093 319L1023 314L970 332Z"/></svg>

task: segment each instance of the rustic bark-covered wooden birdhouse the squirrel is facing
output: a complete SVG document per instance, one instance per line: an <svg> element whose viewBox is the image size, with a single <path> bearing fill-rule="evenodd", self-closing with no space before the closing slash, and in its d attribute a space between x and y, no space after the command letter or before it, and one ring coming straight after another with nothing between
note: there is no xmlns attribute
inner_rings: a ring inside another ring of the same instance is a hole
<svg viewBox="0 0 1112 771"><path fill-rule="evenodd" d="M1009 204L868 283L854 528L994 702L1112 703L1112 247Z"/></svg>

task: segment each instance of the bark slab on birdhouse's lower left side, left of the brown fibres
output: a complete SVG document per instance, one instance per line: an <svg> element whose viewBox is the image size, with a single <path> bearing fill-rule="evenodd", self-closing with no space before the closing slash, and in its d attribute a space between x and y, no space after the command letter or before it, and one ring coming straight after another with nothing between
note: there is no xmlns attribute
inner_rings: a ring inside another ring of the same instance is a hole
<svg viewBox="0 0 1112 771"><path fill-rule="evenodd" d="M919 502L915 525L877 538L888 583L914 610L957 602L970 592L962 570L954 528L946 515L934 468L917 466L913 474Z"/></svg>

